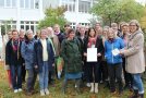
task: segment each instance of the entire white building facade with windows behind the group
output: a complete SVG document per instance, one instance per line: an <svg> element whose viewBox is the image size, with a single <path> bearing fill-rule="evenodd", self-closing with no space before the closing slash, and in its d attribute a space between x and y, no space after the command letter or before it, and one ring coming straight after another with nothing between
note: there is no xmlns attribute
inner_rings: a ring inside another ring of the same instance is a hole
<svg viewBox="0 0 146 98"><path fill-rule="evenodd" d="M0 0L0 25L8 22L11 28L33 29L36 33L38 22L45 17L45 9L59 5L66 8L64 16L72 27L76 24L89 25L93 0Z"/></svg>

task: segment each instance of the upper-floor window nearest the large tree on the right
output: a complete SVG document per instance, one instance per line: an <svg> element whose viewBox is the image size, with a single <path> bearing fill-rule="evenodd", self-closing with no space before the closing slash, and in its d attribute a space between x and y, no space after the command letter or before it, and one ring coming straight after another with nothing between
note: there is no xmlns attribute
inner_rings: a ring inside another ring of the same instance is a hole
<svg viewBox="0 0 146 98"><path fill-rule="evenodd" d="M90 9L90 2L89 1L82 1L78 2L78 12L82 13L88 13Z"/></svg>

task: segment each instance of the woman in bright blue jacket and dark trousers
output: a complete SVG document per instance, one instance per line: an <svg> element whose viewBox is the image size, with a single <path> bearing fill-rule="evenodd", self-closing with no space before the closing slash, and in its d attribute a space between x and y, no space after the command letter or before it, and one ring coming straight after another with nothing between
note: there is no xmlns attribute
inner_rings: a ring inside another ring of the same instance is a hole
<svg viewBox="0 0 146 98"><path fill-rule="evenodd" d="M124 48L123 40L115 36L112 28L108 30L108 39L105 41L105 58L108 64L110 91L115 93L115 78L119 85L119 95L123 91L122 84L122 57L119 53L113 53L115 50Z"/></svg>

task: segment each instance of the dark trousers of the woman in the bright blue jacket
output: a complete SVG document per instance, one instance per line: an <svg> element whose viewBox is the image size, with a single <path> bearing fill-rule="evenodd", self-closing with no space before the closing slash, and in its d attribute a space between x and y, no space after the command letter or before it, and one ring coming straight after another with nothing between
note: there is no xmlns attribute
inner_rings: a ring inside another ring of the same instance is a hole
<svg viewBox="0 0 146 98"><path fill-rule="evenodd" d="M115 90L115 78L119 85L119 91L123 90L122 84L122 63L108 64L109 79L110 79L110 89Z"/></svg>

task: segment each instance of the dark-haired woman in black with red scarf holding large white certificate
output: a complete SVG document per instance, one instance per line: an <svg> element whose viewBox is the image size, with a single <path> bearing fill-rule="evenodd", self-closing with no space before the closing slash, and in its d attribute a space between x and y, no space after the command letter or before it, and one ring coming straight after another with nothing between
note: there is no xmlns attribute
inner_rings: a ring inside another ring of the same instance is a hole
<svg viewBox="0 0 146 98"><path fill-rule="evenodd" d="M99 65L104 53L102 39L96 36L96 30L89 28L87 38L84 42L84 56L87 58L88 79L90 83L90 93L98 93Z"/></svg>

